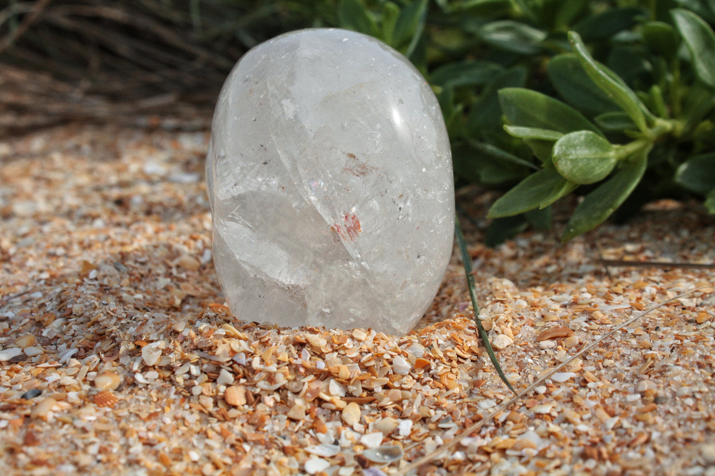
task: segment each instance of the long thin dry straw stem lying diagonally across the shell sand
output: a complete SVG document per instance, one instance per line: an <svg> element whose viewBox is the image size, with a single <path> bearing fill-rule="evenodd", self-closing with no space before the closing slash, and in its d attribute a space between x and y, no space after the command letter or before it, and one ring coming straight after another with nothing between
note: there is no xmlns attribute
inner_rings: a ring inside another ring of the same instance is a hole
<svg viewBox="0 0 715 476"><path fill-rule="evenodd" d="M631 317L631 319L626 320L626 322L623 322L622 324L618 324L616 327L611 329L608 334L603 335L603 337L600 337L599 339L596 339L594 342L591 342L591 344L588 344L586 347L583 347L583 349L579 350L576 352L576 354L573 354L571 357L569 357L566 361L561 362L561 364L556 365L556 367L553 367L553 369L549 370L546 372L543 377L539 378L536 380L536 382L533 382L533 384L529 385L526 387L524 390L519 392L516 397L513 397L511 400L509 400L506 403L503 403L499 405L498 407L495 408L493 412L491 412L487 417L483 418L483 420L479 420L478 422L474 423L473 425L465 428L463 432L461 432L459 435L457 435L453 440L451 440L448 443L445 443L444 445L438 447L436 450L433 452L428 453L427 455L424 455L418 460L413 461L410 463L410 465L405 466L403 468L400 468L398 472L396 472L396 475L407 475L408 472L412 470L416 470L418 467L424 465L425 463L428 463L432 460L437 459L440 457L440 455L443 455L444 452L453 449L455 446L459 444L459 442L466 436L470 435L470 433L473 433L477 430L479 430L481 427L485 425L485 423L489 422L492 420L496 415L500 414L504 410L506 410L508 407L511 407L511 405L515 404L519 400L521 400L524 396L528 395L532 390L534 390L536 387L541 385L543 382L546 382L548 378L550 378L552 375L554 375L556 372L559 370L563 369L563 367L566 367L566 365L569 365L573 360L578 359L578 357L581 357L581 355L585 354L589 350L593 349L593 347L596 347L598 344L601 344L605 339L608 339L609 337L613 337L613 334L616 334L619 330L623 329L623 327L626 327L633 322L636 322L638 319L641 319L641 317L644 317L646 314L649 314L649 312L653 312L654 310L658 309L659 307L663 307L664 305L668 304L669 302L673 302L677 299L680 299L681 297L685 297L688 294L691 294L696 291L702 291L704 289L707 289L706 292L712 292L713 287L712 286L701 286L697 287L695 289L691 289L688 292L684 292L683 294L679 294L676 297L671 297L671 299L668 299L664 302L661 302L659 304L656 304L655 306L651 307L650 309L646 309L644 312L641 312L641 314L638 314L636 317Z"/></svg>

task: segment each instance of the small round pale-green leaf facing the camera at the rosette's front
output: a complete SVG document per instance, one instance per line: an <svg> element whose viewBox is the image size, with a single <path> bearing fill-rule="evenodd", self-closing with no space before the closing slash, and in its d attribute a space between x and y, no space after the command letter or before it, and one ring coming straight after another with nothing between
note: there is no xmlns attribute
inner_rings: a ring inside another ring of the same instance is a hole
<svg viewBox="0 0 715 476"><path fill-rule="evenodd" d="M553 144L553 164L564 178L577 184L605 179L616 167L616 149L591 131L570 132Z"/></svg>

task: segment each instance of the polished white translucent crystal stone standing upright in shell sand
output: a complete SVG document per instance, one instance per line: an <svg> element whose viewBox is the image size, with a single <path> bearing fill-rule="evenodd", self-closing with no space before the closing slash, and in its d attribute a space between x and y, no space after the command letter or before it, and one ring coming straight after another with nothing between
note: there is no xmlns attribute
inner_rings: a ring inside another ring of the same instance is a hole
<svg viewBox="0 0 715 476"><path fill-rule="evenodd" d="M213 257L232 311L405 333L450 259L447 132L425 79L380 41L267 41L221 91L207 159Z"/></svg>

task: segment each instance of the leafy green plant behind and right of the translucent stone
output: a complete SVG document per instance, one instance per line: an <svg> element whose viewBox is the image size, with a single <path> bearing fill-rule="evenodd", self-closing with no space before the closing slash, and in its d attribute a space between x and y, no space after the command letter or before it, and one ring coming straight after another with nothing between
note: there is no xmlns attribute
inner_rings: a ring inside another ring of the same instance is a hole
<svg viewBox="0 0 715 476"><path fill-rule="evenodd" d="M564 241L661 197L715 213L715 5L693 0L341 0L438 94L458 183L506 189L497 244L583 195Z"/></svg>

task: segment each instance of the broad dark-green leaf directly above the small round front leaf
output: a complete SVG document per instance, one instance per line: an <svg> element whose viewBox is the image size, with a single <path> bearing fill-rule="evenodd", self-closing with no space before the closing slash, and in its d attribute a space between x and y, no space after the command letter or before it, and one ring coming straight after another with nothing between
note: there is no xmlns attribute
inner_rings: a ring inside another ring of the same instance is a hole
<svg viewBox="0 0 715 476"><path fill-rule="evenodd" d="M515 126L558 132L589 130L602 135L596 126L573 107L531 89L500 89L499 102L504 115Z"/></svg>

